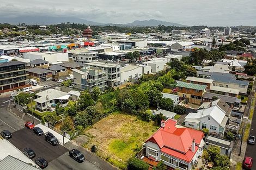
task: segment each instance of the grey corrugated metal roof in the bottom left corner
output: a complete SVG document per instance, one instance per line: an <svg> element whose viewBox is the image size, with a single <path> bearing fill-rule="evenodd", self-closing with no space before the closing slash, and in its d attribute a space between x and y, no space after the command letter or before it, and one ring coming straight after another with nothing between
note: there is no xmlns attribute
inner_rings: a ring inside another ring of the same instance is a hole
<svg viewBox="0 0 256 170"><path fill-rule="evenodd" d="M38 170L38 168L29 165L13 156L8 155L2 161L0 161L1 170Z"/></svg>

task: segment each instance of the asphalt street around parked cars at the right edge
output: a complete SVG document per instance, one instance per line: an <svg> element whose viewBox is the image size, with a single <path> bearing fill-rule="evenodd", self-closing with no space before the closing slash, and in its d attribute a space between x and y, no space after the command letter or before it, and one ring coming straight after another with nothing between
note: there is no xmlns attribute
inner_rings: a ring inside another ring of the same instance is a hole
<svg viewBox="0 0 256 170"><path fill-rule="evenodd" d="M256 109L254 109L250 135L256 136ZM247 144L245 156L251 157L254 162L256 161L256 146L255 146L255 144L253 144L253 145ZM256 169L256 163L253 163L252 169Z"/></svg>

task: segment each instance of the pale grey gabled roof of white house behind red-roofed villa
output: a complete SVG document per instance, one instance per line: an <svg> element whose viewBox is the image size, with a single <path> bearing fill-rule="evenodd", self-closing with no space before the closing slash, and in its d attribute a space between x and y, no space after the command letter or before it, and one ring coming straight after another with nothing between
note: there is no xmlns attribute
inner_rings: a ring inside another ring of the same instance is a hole
<svg viewBox="0 0 256 170"><path fill-rule="evenodd" d="M220 108L218 105L211 106L210 108L206 109L198 109L196 113L189 113L185 119L201 119L203 117L210 116L215 121L221 125L224 117L225 111Z"/></svg>

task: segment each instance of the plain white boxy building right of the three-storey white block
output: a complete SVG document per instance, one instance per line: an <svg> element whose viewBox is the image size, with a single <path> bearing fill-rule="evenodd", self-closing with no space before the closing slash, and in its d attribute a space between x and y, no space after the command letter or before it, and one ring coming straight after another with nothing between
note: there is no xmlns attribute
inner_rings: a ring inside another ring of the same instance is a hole
<svg viewBox="0 0 256 170"><path fill-rule="evenodd" d="M121 84L131 79L141 78L143 74L143 67L135 65L127 65L121 67Z"/></svg>

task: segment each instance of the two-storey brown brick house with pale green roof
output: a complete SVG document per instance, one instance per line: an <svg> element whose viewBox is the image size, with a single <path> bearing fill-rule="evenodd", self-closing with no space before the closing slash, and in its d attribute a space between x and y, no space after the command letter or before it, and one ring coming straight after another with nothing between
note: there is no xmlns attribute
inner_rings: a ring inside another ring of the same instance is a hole
<svg viewBox="0 0 256 170"><path fill-rule="evenodd" d="M181 98L187 98L189 103L200 105L207 86L178 81L176 87Z"/></svg>

